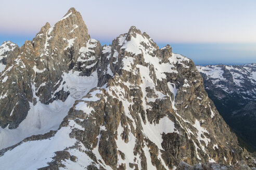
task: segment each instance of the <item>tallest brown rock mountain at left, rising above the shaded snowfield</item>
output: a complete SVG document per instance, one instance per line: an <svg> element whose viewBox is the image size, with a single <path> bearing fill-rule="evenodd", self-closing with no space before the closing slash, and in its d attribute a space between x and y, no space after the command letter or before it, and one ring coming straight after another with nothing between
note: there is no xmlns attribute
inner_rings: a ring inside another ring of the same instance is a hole
<svg viewBox="0 0 256 170"><path fill-rule="evenodd" d="M4 43L2 47L5 49L9 44ZM9 62L4 62L6 69L0 78L0 126L8 125L9 129L17 128L37 102L65 101L70 91L63 81L63 73L72 69L90 76L101 53L99 41L89 37L80 13L74 8L54 26L46 23L20 50L16 46L9 45L15 50L10 48L2 54Z"/></svg>

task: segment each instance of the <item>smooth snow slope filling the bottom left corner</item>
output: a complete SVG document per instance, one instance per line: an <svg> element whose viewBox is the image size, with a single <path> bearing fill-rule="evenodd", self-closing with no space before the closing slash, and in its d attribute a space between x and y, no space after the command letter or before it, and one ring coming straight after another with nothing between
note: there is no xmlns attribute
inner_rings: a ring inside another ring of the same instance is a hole
<svg viewBox="0 0 256 170"><path fill-rule="evenodd" d="M71 127L62 127L55 136L49 139L27 141L9 150L0 157L1 168L3 169L37 169L48 166L56 151L71 147L77 141L70 138ZM25 154L24 154L25 153Z"/></svg>

